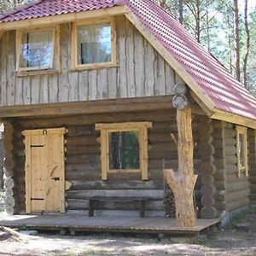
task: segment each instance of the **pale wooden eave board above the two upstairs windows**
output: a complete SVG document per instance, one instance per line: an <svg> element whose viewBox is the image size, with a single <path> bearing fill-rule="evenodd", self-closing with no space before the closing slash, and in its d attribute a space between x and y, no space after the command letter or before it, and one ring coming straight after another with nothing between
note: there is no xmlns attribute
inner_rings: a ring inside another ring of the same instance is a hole
<svg viewBox="0 0 256 256"><path fill-rule="evenodd" d="M33 18L27 20L7 21L0 23L0 32L22 29L28 26L49 26L72 22L75 20L99 19L106 16L125 15L128 12L131 12L131 10L125 6L113 6L110 8L87 10L70 14L51 15L47 17Z"/></svg>

